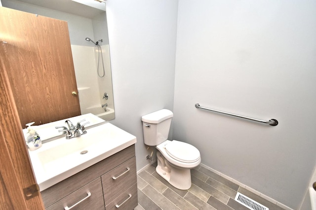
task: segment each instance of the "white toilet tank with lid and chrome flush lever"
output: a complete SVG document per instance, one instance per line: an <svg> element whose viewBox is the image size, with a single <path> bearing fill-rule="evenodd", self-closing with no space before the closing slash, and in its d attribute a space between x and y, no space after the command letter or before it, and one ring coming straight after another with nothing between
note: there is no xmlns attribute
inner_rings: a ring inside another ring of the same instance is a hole
<svg viewBox="0 0 316 210"><path fill-rule="evenodd" d="M172 117L173 113L167 109L142 117L145 145L157 146L168 139Z"/></svg>

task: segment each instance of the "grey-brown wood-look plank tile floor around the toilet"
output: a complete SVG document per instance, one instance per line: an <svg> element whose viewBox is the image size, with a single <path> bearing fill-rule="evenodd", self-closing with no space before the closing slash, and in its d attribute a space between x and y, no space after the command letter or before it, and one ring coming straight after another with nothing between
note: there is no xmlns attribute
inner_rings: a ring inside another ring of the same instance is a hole
<svg viewBox="0 0 316 210"><path fill-rule="evenodd" d="M269 210L283 210L201 166L191 170L191 188L179 190L157 174L156 166L154 163L137 175L138 206L135 210L249 210L235 201L237 192Z"/></svg>

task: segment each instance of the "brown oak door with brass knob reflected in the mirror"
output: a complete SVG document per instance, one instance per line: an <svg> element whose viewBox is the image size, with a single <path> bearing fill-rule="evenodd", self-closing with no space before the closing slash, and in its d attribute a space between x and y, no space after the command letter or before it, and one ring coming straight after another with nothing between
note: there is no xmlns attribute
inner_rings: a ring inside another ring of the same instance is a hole
<svg viewBox="0 0 316 210"><path fill-rule="evenodd" d="M0 7L0 42L22 127L80 115L67 22Z"/></svg>

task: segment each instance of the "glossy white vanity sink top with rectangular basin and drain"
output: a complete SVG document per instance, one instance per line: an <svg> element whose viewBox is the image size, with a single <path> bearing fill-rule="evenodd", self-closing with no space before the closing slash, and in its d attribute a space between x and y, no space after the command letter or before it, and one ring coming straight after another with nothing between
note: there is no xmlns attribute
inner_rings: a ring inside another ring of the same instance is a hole
<svg viewBox="0 0 316 210"><path fill-rule="evenodd" d="M63 135L29 154L42 191L135 143L135 136L108 122L76 138Z"/></svg>

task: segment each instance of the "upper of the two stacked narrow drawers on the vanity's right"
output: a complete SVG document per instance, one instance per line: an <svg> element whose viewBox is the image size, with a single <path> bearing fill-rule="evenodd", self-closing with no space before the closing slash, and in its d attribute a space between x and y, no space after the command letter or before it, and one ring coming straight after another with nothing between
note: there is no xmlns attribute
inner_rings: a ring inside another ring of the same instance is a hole
<svg viewBox="0 0 316 210"><path fill-rule="evenodd" d="M107 206L136 180L136 157L132 157L101 177L104 201Z"/></svg>

